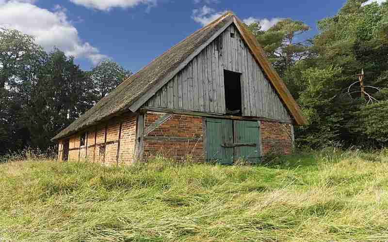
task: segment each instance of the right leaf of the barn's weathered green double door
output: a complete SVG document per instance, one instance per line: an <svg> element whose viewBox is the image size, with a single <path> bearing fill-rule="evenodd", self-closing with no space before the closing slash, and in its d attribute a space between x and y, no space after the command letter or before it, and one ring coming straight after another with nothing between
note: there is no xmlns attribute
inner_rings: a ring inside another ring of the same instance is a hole
<svg viewBox="0 0 388 242"><path fill-rule="evenodd" d="M258 121L234 121L234 159L258 163L260 158Z"/></svg>

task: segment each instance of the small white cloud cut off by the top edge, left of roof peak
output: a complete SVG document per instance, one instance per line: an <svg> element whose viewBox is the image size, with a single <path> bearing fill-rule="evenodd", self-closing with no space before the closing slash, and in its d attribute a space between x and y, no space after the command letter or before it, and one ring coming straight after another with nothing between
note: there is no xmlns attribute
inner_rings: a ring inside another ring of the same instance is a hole
<svg viewBox="0 0 388 242"><path fill-rule="evenodd" d="M87 8L109 11L112 8L132 8L139 4L146 4L148 10L155 6L157 0L70 0L71 2Z"/></svg>

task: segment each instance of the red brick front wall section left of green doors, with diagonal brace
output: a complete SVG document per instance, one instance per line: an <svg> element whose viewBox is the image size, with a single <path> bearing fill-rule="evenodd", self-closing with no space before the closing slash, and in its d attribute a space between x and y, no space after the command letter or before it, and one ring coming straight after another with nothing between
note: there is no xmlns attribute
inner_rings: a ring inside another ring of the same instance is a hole
<svg viewBox="0 0 388 242"><path fill-rule="evenodd" d="M164 113L146 113L145 128L162 115ZM178 160L186 156L191 156L195 161L203 160L202 117L173 114L149 133L144 140L144 158L157 154Z"/></svg>

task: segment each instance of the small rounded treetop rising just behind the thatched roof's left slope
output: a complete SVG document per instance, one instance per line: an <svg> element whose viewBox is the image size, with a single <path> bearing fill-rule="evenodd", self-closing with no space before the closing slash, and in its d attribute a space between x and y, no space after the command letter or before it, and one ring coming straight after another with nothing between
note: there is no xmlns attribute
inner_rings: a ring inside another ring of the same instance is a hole
<svg viewBox="0 0 388 242"><path fill-rule="evenodd" d="M99 100L131 75L131 71L124 69L116 62L103 60L92 69L88 76L93 83L97 100Z"/></svg>

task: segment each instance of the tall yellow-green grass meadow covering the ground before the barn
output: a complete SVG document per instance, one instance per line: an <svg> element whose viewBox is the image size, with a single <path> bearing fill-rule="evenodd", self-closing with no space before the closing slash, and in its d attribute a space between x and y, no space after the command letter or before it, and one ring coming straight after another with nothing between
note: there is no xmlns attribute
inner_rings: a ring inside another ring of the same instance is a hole
<svg viewBox="0 0 388 242"><path fill-rule="evenodd" d="M388 152L0 165L0 241L387 241Z"/></svg>

